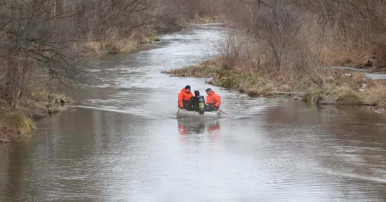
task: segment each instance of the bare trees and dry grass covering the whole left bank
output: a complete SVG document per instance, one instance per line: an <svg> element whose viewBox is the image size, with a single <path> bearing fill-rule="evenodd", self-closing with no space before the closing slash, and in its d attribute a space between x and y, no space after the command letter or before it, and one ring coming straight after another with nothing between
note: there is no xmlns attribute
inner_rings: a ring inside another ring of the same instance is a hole
<svg viewBox="0 0 386 202"><path fill-rule="evenodd" d="M93 62L95 56L133 52L141 43L159 41L157 33L178 30L189 19L213 21L217 19L210 13L213 2L0 2L0 142L17 140L34 129L32 120L55 114L60 105L71 102L64 96L36 92L32 83L80 90L78 84L101 78L106 68Z"/></svg>

